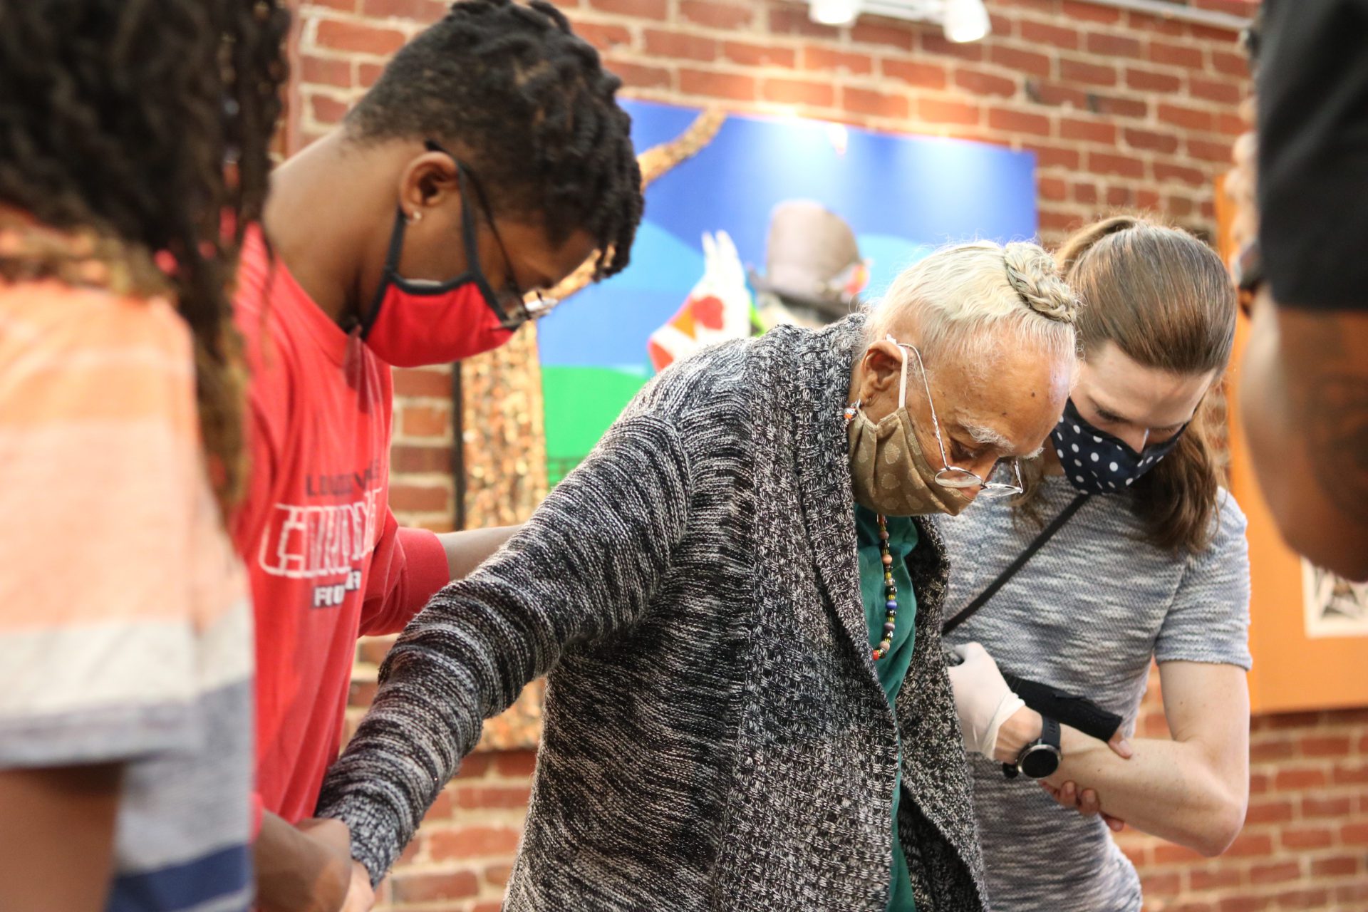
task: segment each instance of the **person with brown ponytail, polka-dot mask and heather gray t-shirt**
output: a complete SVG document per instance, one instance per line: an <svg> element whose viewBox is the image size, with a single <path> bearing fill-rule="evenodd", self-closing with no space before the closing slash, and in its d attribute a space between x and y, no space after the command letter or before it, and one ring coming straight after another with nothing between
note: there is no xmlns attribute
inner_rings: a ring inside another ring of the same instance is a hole
<svg viewBox="0 0 1368 912"><path fill-rule="evenodd" d="M993 904L1138 912L1108 823L1212 856L1248 801L1245 518L1208 425L1235 291L1215 252L1144 219L1086 227L1056 258L1081 299L1078 386L1025 494L943 524L951 678ZM1168 738L1134 737L1150 660ZM1003 671L1122 723L1060 732Z"/></svg>

